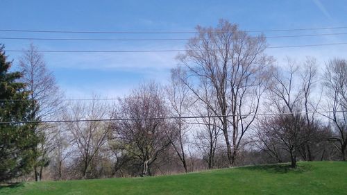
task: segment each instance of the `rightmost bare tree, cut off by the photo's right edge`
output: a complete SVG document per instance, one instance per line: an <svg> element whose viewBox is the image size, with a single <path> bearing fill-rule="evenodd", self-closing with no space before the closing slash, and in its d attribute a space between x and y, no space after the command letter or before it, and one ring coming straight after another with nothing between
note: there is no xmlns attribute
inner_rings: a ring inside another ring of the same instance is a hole
<svg viewBox="0 0 347 195"><path fill-rule="evenodd" d="M332 121L336 135L330 137L341 153L342 160L347 160L347 61L330 60L325 67L324 85L328 108L332 115L325 115Z"/></svg>

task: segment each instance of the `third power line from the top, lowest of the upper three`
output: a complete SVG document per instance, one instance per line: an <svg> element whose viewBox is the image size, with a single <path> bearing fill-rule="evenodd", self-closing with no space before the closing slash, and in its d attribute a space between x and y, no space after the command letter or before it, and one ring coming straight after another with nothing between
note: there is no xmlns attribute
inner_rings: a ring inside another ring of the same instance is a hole
<svg viewBox="0 0 347 195"><path fill-rule="evenodd" d="M343 45L347 42L337 42L328 44L302 44L302 45L286 45L286 46L266 46L266 49L294 48L294 47L310 47L310 46L331 46ZM213 51L210 49L209 51ZM28 52L28 50L5 50L6 52ZM151 53L151 52L186 52L186 51L206 51L198 49L167 49L167 50L37 50L42 53Z"/></svg>

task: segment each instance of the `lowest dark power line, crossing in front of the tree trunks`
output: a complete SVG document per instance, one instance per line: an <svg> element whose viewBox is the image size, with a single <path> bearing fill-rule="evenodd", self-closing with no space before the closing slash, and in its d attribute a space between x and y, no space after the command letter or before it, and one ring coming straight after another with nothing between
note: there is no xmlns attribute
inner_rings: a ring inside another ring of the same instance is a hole
<svg viewBox="0 0 347 195"><path fill-rule="evenodd" d="M0 124L45 124L45 123L69 123L69 122L92 122L92 121L137 121L137 120L159 120L159 119L201 119L218 117L248 117L248 116L271 116L271 115L297 115L297 114L315 114L347 112L346 110L336 111L314 111L314 112L282 112L282 113L258 113L249 115L214 115L214 116L186 116L186 117L150 117L150 118L118 118L118 119L79 119L79 120L56 120L56 121L1 121Z"/></svg>

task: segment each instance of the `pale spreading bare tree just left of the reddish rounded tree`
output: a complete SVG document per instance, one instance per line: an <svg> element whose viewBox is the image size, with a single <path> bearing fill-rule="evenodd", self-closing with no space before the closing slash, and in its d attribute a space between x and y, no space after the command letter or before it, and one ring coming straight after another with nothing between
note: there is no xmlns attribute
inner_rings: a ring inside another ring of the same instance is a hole
<svg viewBox="0 0 347 195"><path fill-rule="evenodd" d="M89 103L75 103L65 115L66 120L73 120L65 124L71 133L71 144L81 155L82 178L90 177L92 161L101 147L107 141L110 122L97 119L111 118L108 105L99 101L96 96ZM80 122L78 120L90 120Z"/></svg>

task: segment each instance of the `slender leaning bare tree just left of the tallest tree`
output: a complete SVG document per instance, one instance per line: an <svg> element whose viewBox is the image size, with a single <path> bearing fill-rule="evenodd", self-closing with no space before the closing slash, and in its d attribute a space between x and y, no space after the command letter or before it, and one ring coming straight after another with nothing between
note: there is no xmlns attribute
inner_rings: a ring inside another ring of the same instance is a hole
<svg viewBox="0 0 347 195"><path fill-rule="evenodd" d="M171 83L166 87L166 92L171 115L178 117L173 121L168 138L171 139L171 145L174 147L187 173L188 169L184 144L187 141L187 130L189 126L181 117L188 114L191 102L189 99L189 88L181 80L181 78L185 77L185 74L186 72L180 67L171 69Z"/></svg>

